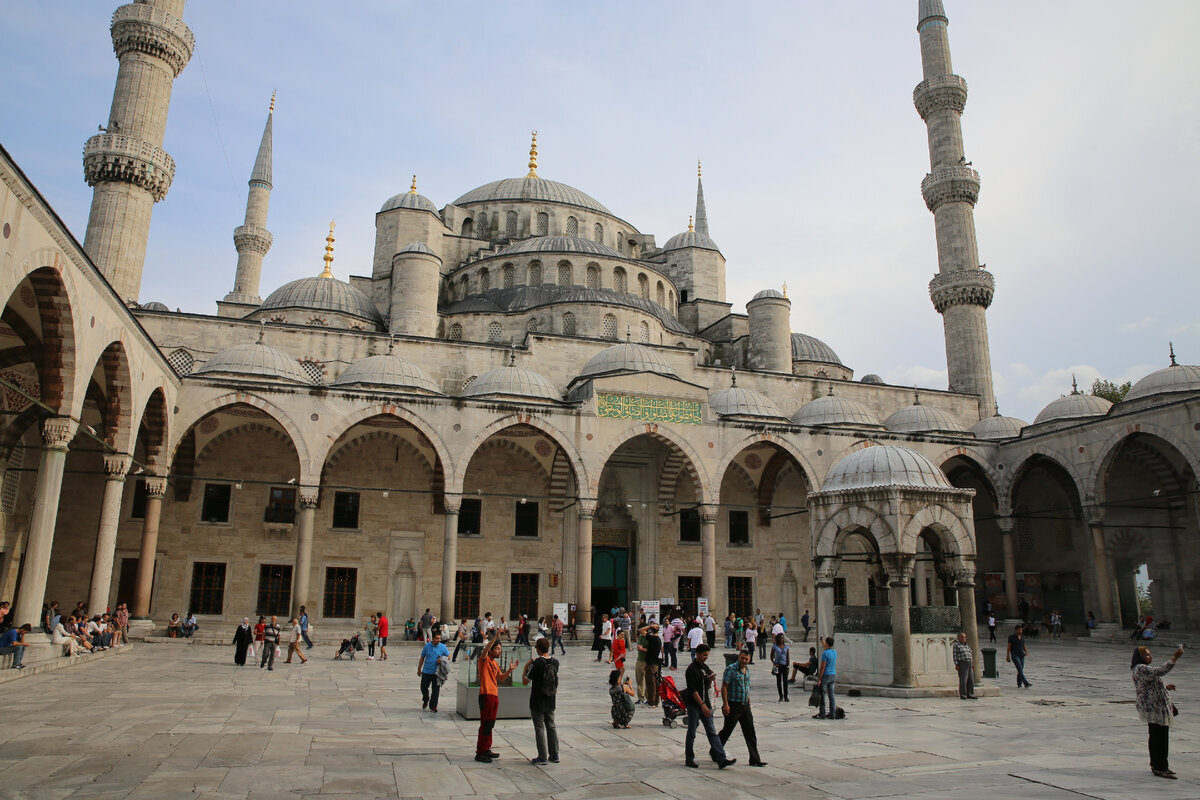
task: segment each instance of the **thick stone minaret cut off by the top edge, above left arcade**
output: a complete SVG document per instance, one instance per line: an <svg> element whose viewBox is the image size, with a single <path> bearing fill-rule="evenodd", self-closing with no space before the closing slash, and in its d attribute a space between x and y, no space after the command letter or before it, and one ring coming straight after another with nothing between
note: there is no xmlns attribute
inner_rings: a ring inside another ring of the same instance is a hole
<svg viewBox="0 0 1200 800"><path fill-rule="evenodd" d="M92 187L84 249L127 302L142 288L150 212L175 176L162 136L172 85L196 47L182 16L184 0L137 0L116 10L113 107L108 126L83 148L84 179Z"/></svg>

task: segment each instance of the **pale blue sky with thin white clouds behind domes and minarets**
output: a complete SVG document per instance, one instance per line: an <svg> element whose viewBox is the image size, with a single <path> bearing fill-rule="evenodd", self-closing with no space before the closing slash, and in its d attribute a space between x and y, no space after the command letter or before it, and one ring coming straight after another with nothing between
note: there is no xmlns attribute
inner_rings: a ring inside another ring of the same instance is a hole
<svg viewBox="0 0 1200 800"><path fill-rule="evenodd" d="M83 143L107 121L115 2L0 4L0 144L80 241ZM53 11L48 11L53 8ZM1200 4L947 0L982 174L980 261L1001 411L1103 377L1200 363ZM262 296L323 266L370 275L374 213L415 173L440 207L527 172L661 245L686 229L696 160L744 313L787 283L792 329L856 377L944 389L916 0L442 4L190 0L143 302L216 313L271 92L275 243Z"/></svg>

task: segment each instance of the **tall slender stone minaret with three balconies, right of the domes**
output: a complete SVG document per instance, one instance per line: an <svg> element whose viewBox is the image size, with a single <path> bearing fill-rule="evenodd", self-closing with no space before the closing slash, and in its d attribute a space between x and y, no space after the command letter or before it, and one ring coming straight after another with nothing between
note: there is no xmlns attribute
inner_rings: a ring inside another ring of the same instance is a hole
<svg viewBox="0 0 1200 800"><path fill-rule="evenodd" d="M950 66L949 20L942 0L919 0L918 12L925 79L912 98L929 128L930 173L920 182L920 193L934 212L937 235L937 275L929 283L929 296L942 314L950 390L978 395L983 419L996 402L985 317L996 281L979 264L974 229L979 173L962 152L967 83Z"/></svg>

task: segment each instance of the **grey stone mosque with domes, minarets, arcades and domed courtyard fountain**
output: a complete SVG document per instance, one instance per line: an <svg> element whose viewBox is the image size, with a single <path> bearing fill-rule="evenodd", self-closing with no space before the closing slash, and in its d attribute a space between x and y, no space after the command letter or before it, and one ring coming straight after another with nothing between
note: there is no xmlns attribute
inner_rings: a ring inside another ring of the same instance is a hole
<svg viewBox="0 0 1200 800"><path fill-rule="evenodd" d="M194 47L184 1L113 16L83 243L0 151L0 597L17 621L83 599L128 603L144 630L187 610L305 604L348 628L569 603L587 630L592 609L703 600L811 609L862 681L896 686L953 679L953 631L978 646L985 603L1128 627L1142 565L1157 615L1200 622L1200 367L1172 351L1115 405L1072 387L1032 423L997 410L941 0L917 4L913 102L949 386L916 391L793 332L786 290L736 307L700 179L692 223L660 237L540 174L536 136L523 175L440 207L415 178L397 187L370 265L335 260L330 225L324 270L264 291L274 102L232 290L214 314L142 297Z"/></svg>

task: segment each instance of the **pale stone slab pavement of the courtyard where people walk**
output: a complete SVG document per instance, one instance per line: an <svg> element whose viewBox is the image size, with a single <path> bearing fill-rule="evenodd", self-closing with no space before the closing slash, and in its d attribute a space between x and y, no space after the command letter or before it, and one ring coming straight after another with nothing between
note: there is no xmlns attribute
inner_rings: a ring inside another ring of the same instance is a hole
<svg viewBox="0 0 1200 800"><path fill-rule="evenodd" d="M684 728L652 710L614 730L607 667L586 650L563 658L562 764L538 768L524 720L497 723L502 758L475 763L476 724L449 712L450 682L442 712L422 712L412 646L386 662L332 661L318 648L319 660L266 672L234 667L227 646L146 644L0 686L0 798L1200 798L1200 652L1171 674L1181 780L1165 781L1148 770L1130 650L1034 642L1031 690L1016 691L1001 663L1000 697L839 697L848 715L838 722L812 720L802 692L776 703L756 663L769 765L745 765L734 733L738 763L719 771L700 744L701 769L685 769ZM682 685L683 664L674 675Z"/></svg>

